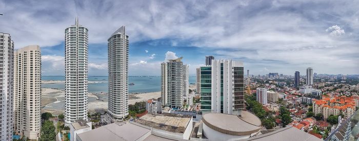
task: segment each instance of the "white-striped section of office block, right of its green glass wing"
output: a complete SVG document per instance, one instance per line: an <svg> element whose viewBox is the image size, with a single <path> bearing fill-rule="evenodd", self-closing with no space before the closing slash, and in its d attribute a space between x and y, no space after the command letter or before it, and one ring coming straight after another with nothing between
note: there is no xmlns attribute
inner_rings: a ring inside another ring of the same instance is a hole
<svg viewBox="0 0 359 141"><path fill-rule="evenodd" d="M212 60L211 82L211 112L241 115L244 109L243 63Z"/></svg>

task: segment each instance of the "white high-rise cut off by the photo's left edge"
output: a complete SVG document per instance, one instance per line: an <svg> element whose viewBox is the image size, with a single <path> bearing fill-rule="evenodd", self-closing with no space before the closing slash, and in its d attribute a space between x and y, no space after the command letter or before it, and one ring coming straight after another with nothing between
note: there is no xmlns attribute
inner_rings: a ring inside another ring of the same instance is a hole
<svg viewBox="0 0 359 141"><path fill-rule="evenodd" d="M0 32L0 140L12 140L14 42L10 34Z"/></svg>

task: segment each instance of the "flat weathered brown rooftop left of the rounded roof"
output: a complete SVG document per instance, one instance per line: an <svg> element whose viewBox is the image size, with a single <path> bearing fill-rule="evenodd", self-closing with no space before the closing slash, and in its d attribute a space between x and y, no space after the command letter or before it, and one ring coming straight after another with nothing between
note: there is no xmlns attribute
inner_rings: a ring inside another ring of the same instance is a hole
<svg viewBox="0 0 359 141"><path fill-rule="evenodd" d="M146 114L136 120L137 123L165 131L183 133L192 116L178 114Z"/></svg>

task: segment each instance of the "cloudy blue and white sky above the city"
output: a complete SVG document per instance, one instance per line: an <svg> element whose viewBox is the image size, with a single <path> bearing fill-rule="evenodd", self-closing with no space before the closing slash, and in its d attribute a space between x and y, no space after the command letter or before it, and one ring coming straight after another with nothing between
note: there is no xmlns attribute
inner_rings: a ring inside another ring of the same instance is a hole
<svg viewBox="0 0 359 141"><path fill-rule="evenodd" d="M190 75L205 56L242 61L250 74L359 74L359 1L6 1L0 32L15 49L39 45L42 75L64 75L65 29L89 29L89 75L107 75L107 39L129 35L129 75L160 75L183 56Z"/></svg>

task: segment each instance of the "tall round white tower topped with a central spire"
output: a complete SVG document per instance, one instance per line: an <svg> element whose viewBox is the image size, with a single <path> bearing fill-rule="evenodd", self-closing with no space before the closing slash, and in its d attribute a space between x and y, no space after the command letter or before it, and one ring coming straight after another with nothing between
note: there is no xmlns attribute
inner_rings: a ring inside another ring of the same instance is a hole
<svg viewBox="0 0 359 141"><path fill-rule="evenodd" d="M88 29L75 25L65 29L65 125L87 120Z"/></svg>

